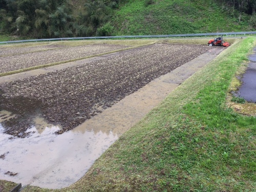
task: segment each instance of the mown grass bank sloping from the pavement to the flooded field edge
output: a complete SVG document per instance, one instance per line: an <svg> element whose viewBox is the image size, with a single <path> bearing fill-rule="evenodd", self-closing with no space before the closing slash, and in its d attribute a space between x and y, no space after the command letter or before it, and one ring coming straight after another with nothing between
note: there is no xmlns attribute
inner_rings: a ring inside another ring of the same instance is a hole
<svg viewBox="0 0 256 192"><path fill-rule="evenodd" d="M255 38L238 40L61 191L256 191L256 118L225 105L231 79L255 45Z"/></svg>

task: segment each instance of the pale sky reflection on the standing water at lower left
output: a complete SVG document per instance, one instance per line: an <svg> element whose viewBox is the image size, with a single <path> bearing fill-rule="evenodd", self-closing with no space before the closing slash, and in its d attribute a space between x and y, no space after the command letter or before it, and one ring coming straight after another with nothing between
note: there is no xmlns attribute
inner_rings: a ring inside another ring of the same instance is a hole
<svg viewBox="0 0 256 192"><path fill-rule="evenodd" d="M53 134L57 126L38 133L35 126L27 138L3 134L0 124L0 179L47 188L62 188L80 179L93 162L118 138L110 131L70 131ZM11 172L16 174L10 176Z"/></svg>

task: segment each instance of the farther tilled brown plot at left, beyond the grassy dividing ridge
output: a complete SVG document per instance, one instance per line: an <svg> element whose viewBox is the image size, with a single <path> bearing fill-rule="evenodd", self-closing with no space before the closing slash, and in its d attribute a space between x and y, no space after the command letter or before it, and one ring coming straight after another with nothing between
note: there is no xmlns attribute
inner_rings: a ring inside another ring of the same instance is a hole
<svg viewBox="0 0 256 192"><path fill-rule="evenodd" d="M49 47L50 49L44 50L47 47ZM127 46L122 45L93 44L76 47L64 47L60 49L53 49L51 46L42 46L35 48L30 47L24 48L24 52L22 51L21 48L14 50L1 50L1 52L5 51L5 54L8 54L9 52L11 55L0 57L0 73L15 71L18 69L24 69L39 65L46 65L48 63L82 58L90 55L123 49L126 47ZM29 52L32 50L38 50L38 52ZM17 52L23 54L14 54Z"/></svg>

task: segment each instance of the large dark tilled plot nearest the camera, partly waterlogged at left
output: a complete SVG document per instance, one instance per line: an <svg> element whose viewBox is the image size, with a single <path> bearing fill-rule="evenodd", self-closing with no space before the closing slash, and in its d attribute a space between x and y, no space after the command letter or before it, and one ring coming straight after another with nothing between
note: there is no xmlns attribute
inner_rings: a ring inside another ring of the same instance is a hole
<svg viewBox="0 0 256 192"><path fill-rule="evenodd" d="M16 114L2 122L5 133L25 137L33 114L62 127L58 133L109 108L151 80L198 55L208 46L155 44L120 52L81 66L0 84L0 109Z"/></svg>

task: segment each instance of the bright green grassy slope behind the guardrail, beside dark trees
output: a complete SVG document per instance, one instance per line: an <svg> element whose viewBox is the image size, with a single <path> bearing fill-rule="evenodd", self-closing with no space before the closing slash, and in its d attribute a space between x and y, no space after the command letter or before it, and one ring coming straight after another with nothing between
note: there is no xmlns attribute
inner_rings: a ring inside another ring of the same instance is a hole
<svg viewBox="0 0 256 192"><path fill-rule="evenodd" d="M120 6L111 22L115 35L251 30L245 21L239 25L238 17L225 12L214 0L156 0L148 6L146 1L134 0Z"/></svg>

